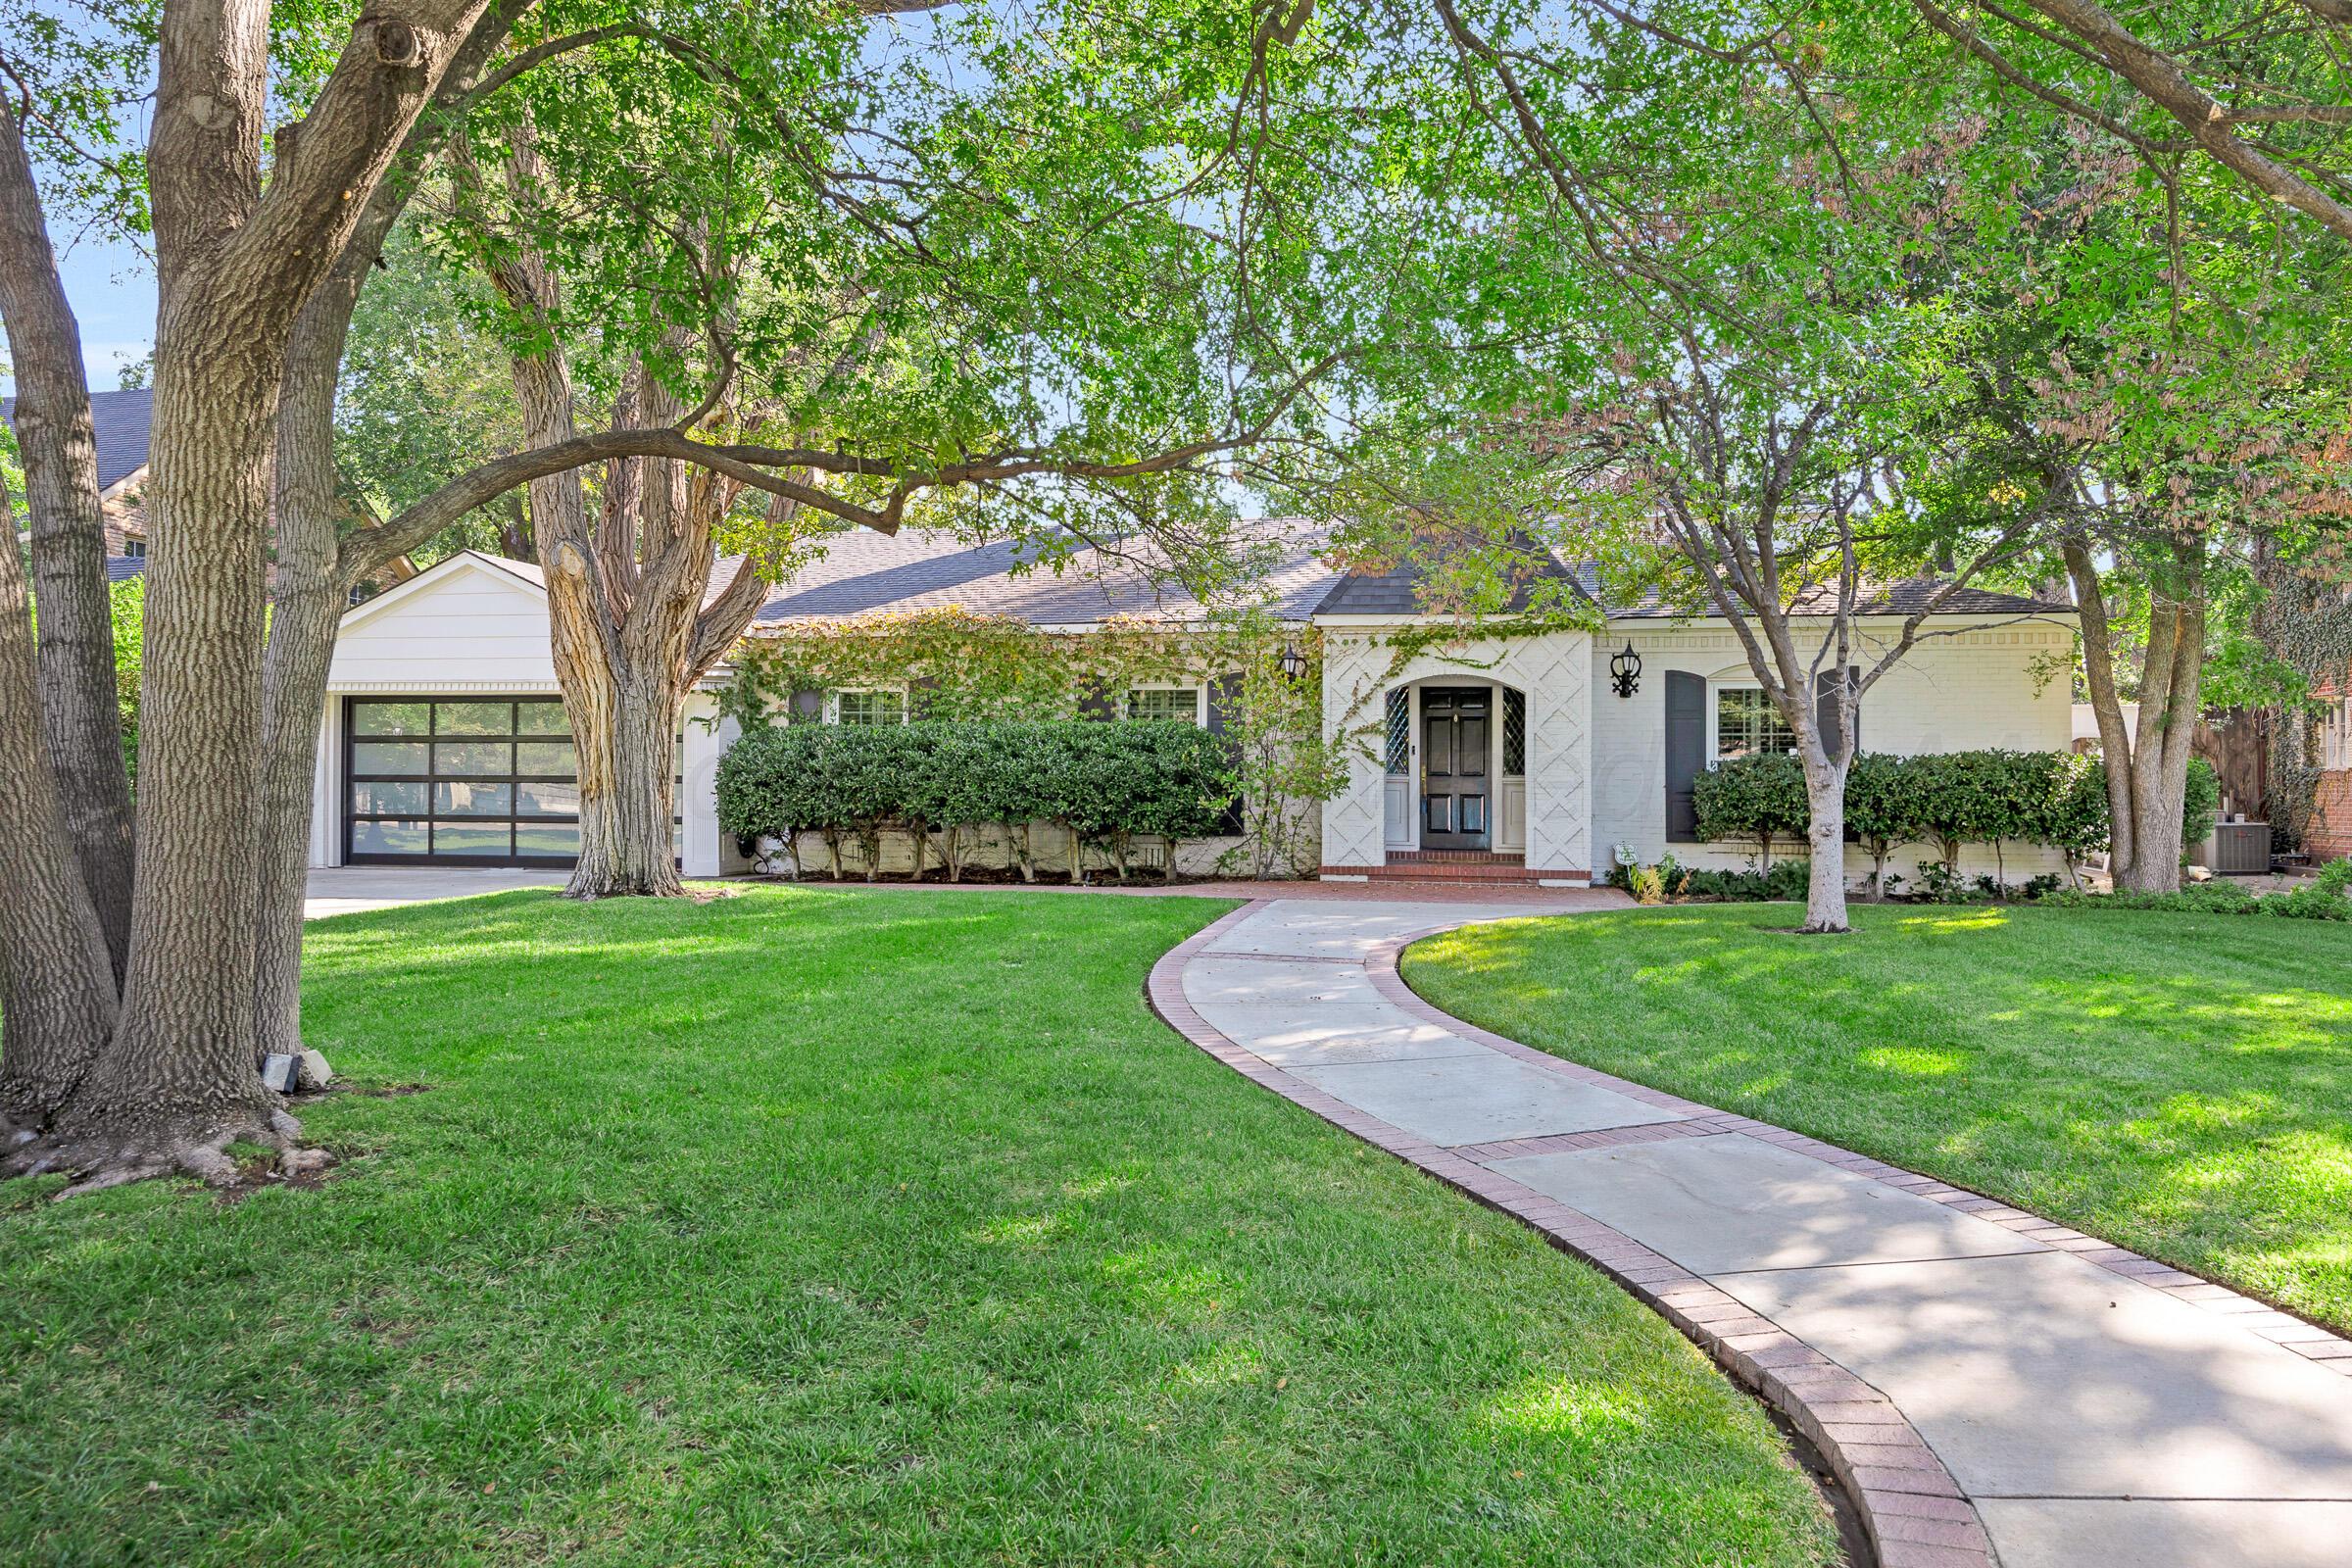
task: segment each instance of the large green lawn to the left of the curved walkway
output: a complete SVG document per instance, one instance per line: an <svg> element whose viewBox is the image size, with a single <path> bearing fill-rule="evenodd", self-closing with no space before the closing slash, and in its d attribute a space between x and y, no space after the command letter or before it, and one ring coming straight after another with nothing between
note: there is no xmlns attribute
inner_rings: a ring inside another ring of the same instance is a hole
<svg viewBox="0 0 2352 1568"><path fill-rule="evenodd" d="M430 1088L315 1190L0 1187L0 1561L1830 1561L1672 1331L1145 1011L1223 907L315 926Z"/></svg>

